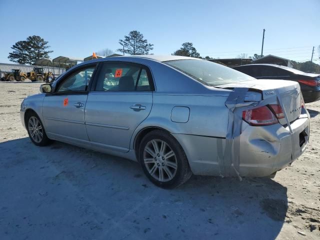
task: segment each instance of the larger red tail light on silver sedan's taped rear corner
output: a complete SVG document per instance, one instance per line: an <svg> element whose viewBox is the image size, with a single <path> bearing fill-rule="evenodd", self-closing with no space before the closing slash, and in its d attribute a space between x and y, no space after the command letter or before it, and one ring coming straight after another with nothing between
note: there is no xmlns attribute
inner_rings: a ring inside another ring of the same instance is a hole
<svg viewBox="0 0 320 240"><path fill-rule="evenodd" d="M253 126L266 126L278 123L278 120L267 106L242 111L242 119Z"/></svg>

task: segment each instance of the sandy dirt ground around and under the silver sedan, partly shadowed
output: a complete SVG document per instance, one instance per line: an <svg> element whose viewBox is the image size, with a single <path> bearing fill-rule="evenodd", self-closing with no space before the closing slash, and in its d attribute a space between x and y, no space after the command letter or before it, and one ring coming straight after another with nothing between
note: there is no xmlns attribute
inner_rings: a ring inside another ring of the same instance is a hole
<svg viewBox="0 0 320 240"><path fill-rule="evenodd" d="M40 83L0 82L0 239L320 239L320 101L306 151L275 178L155 187L135 162L54 142L19 118Z"/></svg>

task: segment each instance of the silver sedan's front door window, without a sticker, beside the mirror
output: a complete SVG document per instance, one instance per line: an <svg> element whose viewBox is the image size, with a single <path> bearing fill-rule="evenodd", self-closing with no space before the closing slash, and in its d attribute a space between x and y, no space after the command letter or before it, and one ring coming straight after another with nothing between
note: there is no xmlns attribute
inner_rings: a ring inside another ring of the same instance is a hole
<svg viewBox="0 0 320 240"><path fill-rule="evenodd" d="M66 77L62 83L58 86L57 92L64 91L85 91L86 86L89 84L91 76L93 74L94 67L90 66L78 70Z"/></svg>

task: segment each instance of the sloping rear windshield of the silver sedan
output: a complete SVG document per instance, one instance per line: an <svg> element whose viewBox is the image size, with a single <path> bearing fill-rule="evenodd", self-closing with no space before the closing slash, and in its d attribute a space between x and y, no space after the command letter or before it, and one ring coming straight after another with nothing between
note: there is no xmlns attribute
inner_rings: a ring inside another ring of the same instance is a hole
<svg viewBox="0 0 320 240"><path fill-rule="evenodd" d="M209 86L255 79L242 72L208 60L185 59L164 61L164 63Z"/></svg>

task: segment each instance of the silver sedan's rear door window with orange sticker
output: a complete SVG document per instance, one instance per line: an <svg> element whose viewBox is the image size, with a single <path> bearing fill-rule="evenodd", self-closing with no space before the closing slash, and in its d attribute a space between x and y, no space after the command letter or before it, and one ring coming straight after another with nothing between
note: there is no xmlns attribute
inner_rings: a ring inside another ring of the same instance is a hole
<svg viewBox="0 0 320 240"><path fill-rule="evenodd" d="M132 63L103 63L96 91L150 91L145 67Z"/></svg>

